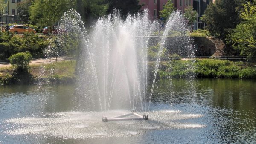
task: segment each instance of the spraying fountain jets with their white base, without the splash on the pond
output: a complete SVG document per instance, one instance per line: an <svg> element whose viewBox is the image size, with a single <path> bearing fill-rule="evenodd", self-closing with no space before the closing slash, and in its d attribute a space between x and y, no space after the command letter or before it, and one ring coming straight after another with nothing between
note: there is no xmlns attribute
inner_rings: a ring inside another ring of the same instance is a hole
<svg viewBox="0 0 256 144"><path fill-rule="evenodd" d="M86 98L92 101L89 107L100 110L102 121L148 119L146 113L150 109L154 91L157 70L166 37L172 31L183 37L176 42L189 47L187 28L182 14L171 14L163 36L160 38L160 48L152 81L148 80L147 54L148 43L154 41L151 34L158 32L160 23L148 18L148 11L137 15L128 15L122 20L115 10L107 17L101 17L87 33L84 23L78 13L73 10L66 12L60 24L69 33L81 36L81 55L79 59L79 86L81 95L79 101ZM152 42L151 42L152 43ZM191 47L191 46L190 46ZM147 93L151 84L150 93ZM81 106L84 107L84 106ZM132 112L107 118L105 112L113 109L130 109ZM140 111L144 116L133 111ZM123 118L134 115L136 118Z"/></svg>

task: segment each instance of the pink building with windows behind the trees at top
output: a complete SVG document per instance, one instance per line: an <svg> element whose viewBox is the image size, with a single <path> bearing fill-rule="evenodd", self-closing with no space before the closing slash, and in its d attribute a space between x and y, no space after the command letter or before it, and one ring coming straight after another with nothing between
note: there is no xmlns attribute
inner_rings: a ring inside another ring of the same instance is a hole
<svg viewBox="0 0 256 144"><path fill-rule="evenodd" d="M168 0L140 0L142 10L148 8L149 16L151 19L156 19L159 17L159 11L162 11L164 5ZM187 6L193 6L193 0L171 0L174 4L174 7L182 12Z"/></svg>

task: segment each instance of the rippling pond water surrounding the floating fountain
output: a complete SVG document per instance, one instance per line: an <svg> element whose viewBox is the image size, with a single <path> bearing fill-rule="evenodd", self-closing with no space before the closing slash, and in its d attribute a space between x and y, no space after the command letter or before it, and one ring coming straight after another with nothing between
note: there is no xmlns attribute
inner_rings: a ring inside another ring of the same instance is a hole
<svg viewBox="0 0 256 144"><path fill-rule="evenodd" d="M100 112L76 110L73 84L0 86L0 144L254 143L255 84L240 79L159 80L147 122L106 123Z"/></svg>

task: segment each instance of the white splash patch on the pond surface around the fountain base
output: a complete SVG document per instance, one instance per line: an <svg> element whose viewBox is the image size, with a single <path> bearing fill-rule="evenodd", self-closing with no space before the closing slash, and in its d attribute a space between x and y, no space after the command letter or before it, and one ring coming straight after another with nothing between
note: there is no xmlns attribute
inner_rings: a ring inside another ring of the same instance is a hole
<svg viewBox="0 0 256 144"><path fill-rule="evenodd" d="M116 116L129 111L109 111L108 116ZM154 111L148 113L149 120L102 122L102 112L60 112L50 114L50 118L12 118L4 122L21 127L6 130L8 135L40 134L60 138L97 138L138 136L147 130L187 129L205 127L201 124L179 123L173 120L200 118L198 114ZM53 117L52 117L53 116Z"/></svg>

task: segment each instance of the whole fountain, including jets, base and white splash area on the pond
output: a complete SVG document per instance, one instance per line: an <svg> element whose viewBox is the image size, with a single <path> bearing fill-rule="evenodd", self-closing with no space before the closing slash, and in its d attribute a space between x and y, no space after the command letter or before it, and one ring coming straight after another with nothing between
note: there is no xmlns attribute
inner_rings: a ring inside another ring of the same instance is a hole
<svg viewBox="0 0 256 144"><path fill-rule="evenodd" d="M47 112L43 118L39 115L7 119L5 123L16 124L17 127L7 129L4 133L79 139L141 135L147 130L205 127L175 121L203 115L183 114L179 110L163 108L151 109L166 38L174 32L178 33L179 37L168 44L180 43L183 50L186 49L186 55L192 52L186 34L188 29L180 12L170 15L163 35L152 36L158 32L159 26L157 20L149 20L147 11L128 15L126 20L121 18L118 11L114 11L107 17L101 17L88 31L76 11L66 12L60 27L66 29L64 35L79 37L81 48L77 60L79 78L73 96L74 108L71 112ZM62 40L60 37L58 42ZM154 72L150 75L148 46L149 43L158 42L159 52ZM47 102L46 97L51 97L47 93L43 93L44 103Z"/></svg>

